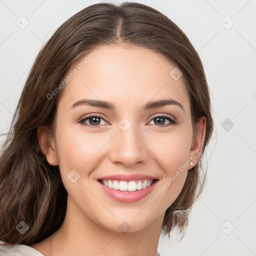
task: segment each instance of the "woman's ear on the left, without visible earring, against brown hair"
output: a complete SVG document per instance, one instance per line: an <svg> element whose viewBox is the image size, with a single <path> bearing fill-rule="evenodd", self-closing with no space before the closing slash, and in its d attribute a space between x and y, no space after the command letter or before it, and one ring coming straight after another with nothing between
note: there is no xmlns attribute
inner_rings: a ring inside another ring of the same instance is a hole
<svg viewBox="0 0 256 256"><path fill-rule="evenodd" d="M37 138L40 148L46 159L51 165L58 165L58 159L55 149L54 139L50 138L50 130L45 126L39 126L37 129Z"/></svg>

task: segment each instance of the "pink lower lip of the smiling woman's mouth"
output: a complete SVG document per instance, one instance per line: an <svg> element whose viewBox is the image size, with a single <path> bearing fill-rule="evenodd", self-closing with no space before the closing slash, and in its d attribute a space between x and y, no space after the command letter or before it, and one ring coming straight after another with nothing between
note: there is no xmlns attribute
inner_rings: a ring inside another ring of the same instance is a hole
<svg viewBox="0 0 256 256"><path fill-rule="evenodd" d="M135 191L120 191L116 190L113 188L109 188L105 185L103 185L100 181L97 180L99 185L102 187L104 192L112 197L114 200L119 201L119 202L135 202L140 200L141 198L145 197L147 194L149 194L152 189L155 186L155 183L157 180L155 180L150 186L144 188L144 189L139 189Z"/></svg>

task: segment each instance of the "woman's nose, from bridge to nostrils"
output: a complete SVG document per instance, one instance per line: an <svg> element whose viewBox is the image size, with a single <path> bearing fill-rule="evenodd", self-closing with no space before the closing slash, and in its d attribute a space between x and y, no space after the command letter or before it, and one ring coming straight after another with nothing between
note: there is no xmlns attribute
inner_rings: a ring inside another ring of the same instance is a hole
<svg viewBox="0 0 256 256"><path fill-rule="evenodd" d="M111 141L110 159L113 163L132 167L136 163L145 162L148 159L148 148L143 142L141 132L131 125L126 131L118 126L116 135Z"/></svg>

